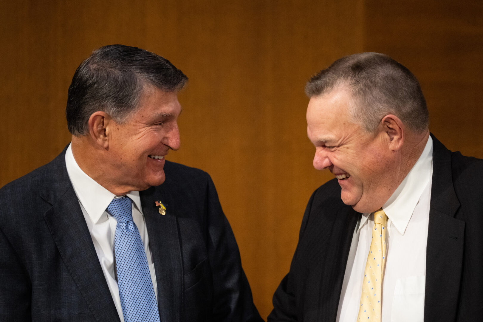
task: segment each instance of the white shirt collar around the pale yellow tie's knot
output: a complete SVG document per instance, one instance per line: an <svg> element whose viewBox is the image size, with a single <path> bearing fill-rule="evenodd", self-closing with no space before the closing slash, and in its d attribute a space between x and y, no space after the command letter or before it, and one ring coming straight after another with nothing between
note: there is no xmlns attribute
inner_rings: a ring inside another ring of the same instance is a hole
<svg viewBox="0 0 483 322"><path fill-rule="evenodd" d="M399 184L396 191L383 206L384 213L391 220L401 235L404 235L406 227L411 219L412 212L419 202L427 183L433 173L433 140L431 137L426 142L423 153L419 156L406 178ZM370 213L363 213L357 233L369 219Z"/></svg>

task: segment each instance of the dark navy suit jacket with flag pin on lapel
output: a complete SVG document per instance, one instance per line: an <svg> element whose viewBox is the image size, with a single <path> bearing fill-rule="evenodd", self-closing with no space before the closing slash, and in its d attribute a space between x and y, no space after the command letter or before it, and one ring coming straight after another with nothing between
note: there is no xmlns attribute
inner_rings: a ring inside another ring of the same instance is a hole
<svg viewBox="0 0 483 322"><path fill-rule="evenodd" d="M165 173L140 192L161 321L263 321L210 176L168 161ZM0 189L0 321L119 321L65 150Z"/></svg>

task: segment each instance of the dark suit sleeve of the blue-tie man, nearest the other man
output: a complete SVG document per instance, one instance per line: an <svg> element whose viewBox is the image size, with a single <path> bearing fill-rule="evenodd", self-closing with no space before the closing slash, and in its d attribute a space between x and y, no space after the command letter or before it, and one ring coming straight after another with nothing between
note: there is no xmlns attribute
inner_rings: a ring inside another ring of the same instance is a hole
<svg viewBox="0 0 483 322"><path fill-rule="evenodd" d="M240 252L208 177L208 256L213 272L213 321L261 322L252 291L241 267Z"/></svg>

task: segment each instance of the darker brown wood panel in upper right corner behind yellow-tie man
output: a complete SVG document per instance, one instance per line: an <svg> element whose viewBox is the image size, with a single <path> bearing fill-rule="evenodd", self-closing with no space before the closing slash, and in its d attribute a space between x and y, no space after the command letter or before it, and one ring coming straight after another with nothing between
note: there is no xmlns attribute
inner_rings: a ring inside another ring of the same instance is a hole
<svg viewBox="0 0 483 322"><path fill-rule="evenodd" d="M419 79L430 130L483 158L483 2L366 1L365 51L393 56Z"/></svg>

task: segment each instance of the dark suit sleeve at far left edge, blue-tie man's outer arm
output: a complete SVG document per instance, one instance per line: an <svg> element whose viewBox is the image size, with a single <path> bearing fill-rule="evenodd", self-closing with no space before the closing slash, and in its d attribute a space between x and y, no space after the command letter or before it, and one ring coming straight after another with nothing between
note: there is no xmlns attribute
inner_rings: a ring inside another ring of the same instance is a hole
<svg viewBox="0 0 483 322"><path fill-rule="evenodd" d="M0 321L31 321L28 274L2 229L0 227Z"/></svg>

